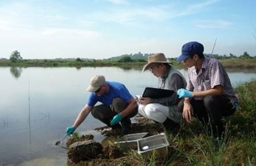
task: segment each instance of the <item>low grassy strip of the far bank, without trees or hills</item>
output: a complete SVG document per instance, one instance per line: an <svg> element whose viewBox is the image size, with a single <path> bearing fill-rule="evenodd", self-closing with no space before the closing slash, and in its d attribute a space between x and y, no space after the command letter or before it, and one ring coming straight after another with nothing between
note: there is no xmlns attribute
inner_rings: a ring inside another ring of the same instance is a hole
<svg viewBox="0 0 256 166"><path fill-rule="evenodd" d="M184 68L183 62L171 61L178 69ZM239 68L239 69L256 69L256 59L250 60L221 60L225 68ZM11 62L10 60L0 60L0 66L14 66L14 67L86 67L86 66L123 66L127 68L142 68L146 62L119 62L111 60L19 60Z"/></svg>

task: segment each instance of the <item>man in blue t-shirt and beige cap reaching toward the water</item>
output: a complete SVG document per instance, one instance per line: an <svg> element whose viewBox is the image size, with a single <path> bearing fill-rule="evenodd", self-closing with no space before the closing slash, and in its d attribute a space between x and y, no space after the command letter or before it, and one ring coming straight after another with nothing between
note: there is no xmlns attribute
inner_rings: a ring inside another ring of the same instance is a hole
<svg viewBox="0 0 256 166"><path fill-rule="evenodd" d="M96 75L91 78L87 88L89 100L78 114L72 127L66 129L66 134L72 134L85 120L90 112L108 126L118 128L121 123L122 134L127 135L131 129L130 118L138 112L137 102L128 89L119 82L106 81L104 76ZM94 106L97 102L101 105Z"/></svg>

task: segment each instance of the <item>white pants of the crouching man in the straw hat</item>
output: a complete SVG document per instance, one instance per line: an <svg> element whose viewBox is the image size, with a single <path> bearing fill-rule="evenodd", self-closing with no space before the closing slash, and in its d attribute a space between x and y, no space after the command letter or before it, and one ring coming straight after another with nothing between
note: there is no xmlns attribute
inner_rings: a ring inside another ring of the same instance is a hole
<svg viewBox="0 0 256 166"><path fill-rule="evenodd" d="M178 109L177 106L175 106ZM182 112L175 110L175 108L170 108L169 106L164 106L157 103L151 103L147 105L139 104L138 113L141 116L150 118L154 121L163 123L167 118L180 123L183 121Z"/></svg>

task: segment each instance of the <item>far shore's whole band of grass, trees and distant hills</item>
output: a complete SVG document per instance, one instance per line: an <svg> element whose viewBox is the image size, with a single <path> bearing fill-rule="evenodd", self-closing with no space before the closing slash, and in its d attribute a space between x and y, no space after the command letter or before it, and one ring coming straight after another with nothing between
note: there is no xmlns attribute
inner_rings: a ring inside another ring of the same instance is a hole
<svg viewBox="0 0 256 166"><path fill-rule="evenodd" d="M125 54L118 57L108 58L106 60L94 60L83 58L70 58L70 59L54 59L54 60L23 60L21 54L16 50L11 53L10 59L0 59L0 66L13 66L13 67L86 67L86 66L119 66L123 68L142 68L147 64L147 58L152 54ZM230 56L220 56L218 54L205 54L206 57L212 57L220 60L226 68L256 68L256 57L251 57L247 52L237 57L230 53ZM168 58L176 68L183 68L182 62L177 62L176 58Z"/></svg>

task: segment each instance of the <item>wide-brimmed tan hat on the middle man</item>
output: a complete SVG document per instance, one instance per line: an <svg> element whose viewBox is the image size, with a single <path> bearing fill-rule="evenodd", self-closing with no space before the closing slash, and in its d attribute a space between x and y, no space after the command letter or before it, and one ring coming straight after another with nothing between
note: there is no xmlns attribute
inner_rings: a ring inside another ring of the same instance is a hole
<svg viewBox="0 0 256 166"><path fill-rule="evenodd" d="M166 61L166 56L163 53L153 54L152 56L148 56L148 64L143 66L142 71L155 66L156 64L172 64L171 62ZM173 64L172 64L173 65Z"/></svg>

